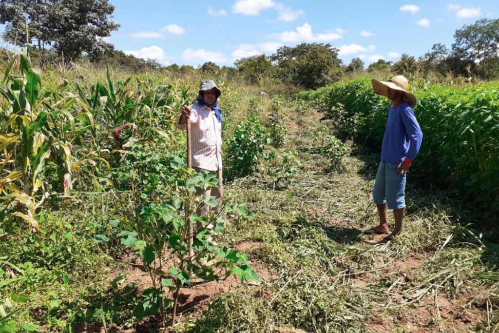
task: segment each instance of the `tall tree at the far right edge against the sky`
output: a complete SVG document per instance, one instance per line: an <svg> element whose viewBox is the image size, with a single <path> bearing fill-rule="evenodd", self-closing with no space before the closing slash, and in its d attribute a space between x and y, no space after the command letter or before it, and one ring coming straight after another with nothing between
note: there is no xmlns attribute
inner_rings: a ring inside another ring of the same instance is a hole
<svg viewBox="0 0 499 333"><path fill-rule="evenodd" d="M499 57L499 19L479 19L475 24L463 25L454 33L452 49L456 56L480 62L486 75L487 63Z"/></svg>

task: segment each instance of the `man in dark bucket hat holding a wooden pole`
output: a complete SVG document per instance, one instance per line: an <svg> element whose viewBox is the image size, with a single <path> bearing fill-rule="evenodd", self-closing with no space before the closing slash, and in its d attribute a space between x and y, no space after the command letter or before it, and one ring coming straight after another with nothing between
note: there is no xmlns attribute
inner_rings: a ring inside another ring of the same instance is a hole
<svg viewBox="0 0 499 333"><path fill-rule="evenodd" d="M213 80L203 80L199 88L197 102L191 106L182 107L177 119L177 128L186 129L186 120L191 121L191 158L192 167L197 171L216 173L218 187L204 191L197 188L196 195L214 196L220 204L224 186L222 184L222 110L217 105L221 91ZM196 213L206 216L210 211L215 213L218 206L210 209L201 203ZM196 229L203 226L198 222Z"/></svg>

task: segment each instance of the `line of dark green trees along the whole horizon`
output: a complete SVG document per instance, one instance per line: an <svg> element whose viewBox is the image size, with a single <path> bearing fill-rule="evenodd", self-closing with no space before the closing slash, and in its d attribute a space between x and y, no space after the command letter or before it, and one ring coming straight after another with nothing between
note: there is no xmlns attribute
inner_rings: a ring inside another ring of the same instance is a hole
<svg viewBox="0 0 499 333"><path fill-rule="evenodd" d="M105 38L119 28L112 20L113 12L114 6L108 0L0 0L0 23L5 24L2 37L14 45L32 44L35 47L33 56L38 55L42 64L46 59L64 55L66 59L83 58L136 71L163 67L156 60L139 59L116 50L106 41ZM499 77L499 19L483 18L464 25L455 31L454 39L450 48L437 43L418 58L404 53L395 62L380 59L367 69L358 57L344 64L338 58L339 50L331 44L301 43L293 47L282 46L271 55L239 59L235 67L220 68L213 62L206 62L199 70L223 70L242 76L249 83L270 77L308 89L365 70L418 77L435 73ZM195 70L192 66L177 64L166 68L174 72Z"/></svg>

